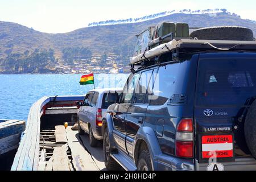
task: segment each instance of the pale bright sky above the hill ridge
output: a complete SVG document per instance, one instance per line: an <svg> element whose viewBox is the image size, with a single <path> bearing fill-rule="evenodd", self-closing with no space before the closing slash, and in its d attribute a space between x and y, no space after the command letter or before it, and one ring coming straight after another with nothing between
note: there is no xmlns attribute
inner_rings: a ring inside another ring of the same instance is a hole
<svg viewBox="0 0 256 182"><path fill-rule="evenodd" d="M64 33L92 22L182 9L227 9L241 18L256 20L255 7L255 0L0 0L0 21L47 33Z"/></svg>

